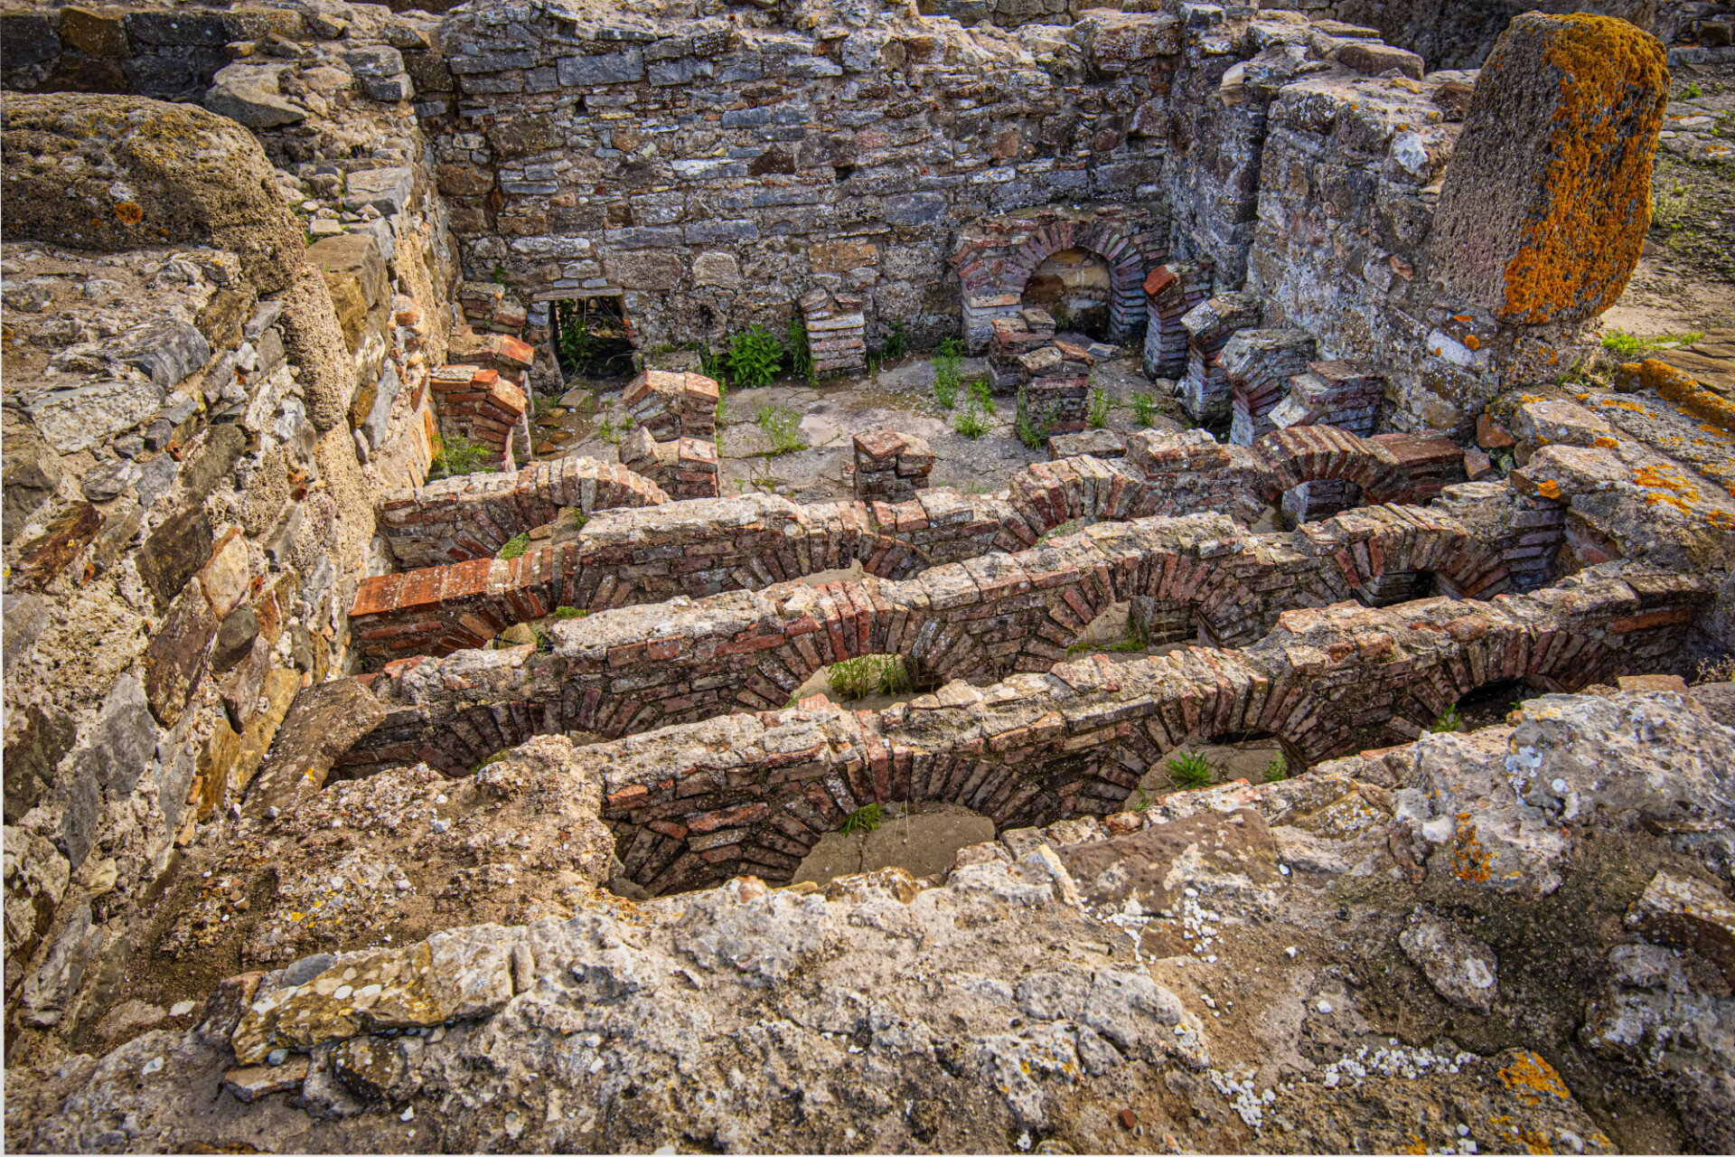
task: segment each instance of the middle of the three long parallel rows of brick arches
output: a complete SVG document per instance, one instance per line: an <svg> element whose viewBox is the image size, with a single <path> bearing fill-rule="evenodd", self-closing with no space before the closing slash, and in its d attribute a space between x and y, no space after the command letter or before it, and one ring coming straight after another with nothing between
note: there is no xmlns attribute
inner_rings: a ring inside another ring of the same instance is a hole
<svg viewBox="0 0 1735 1157"><path fill-rule="evenodd" d="M1098 614L1133 598L1150 600L1147 618L1185 623L1168 638L1197 631L1241 647L1286 611L1372 602L1383 583L1417 572L1489 595L1506 586L1499 553L1461 522L1379 507L1294 534L1251 534L1209 513L1103 522L906 583L781 583L623 607L555 623L553 654L529 666L524 649L390 664L373 689L394 716L340 765L425 760L463 774L510 746L496 742L498 703L520 694L550 730L616 737L779 708L819 668L864 654L907 656L923 677L946 680L1048 671ZM536 690L512 671L534 671Z"/></svg>

